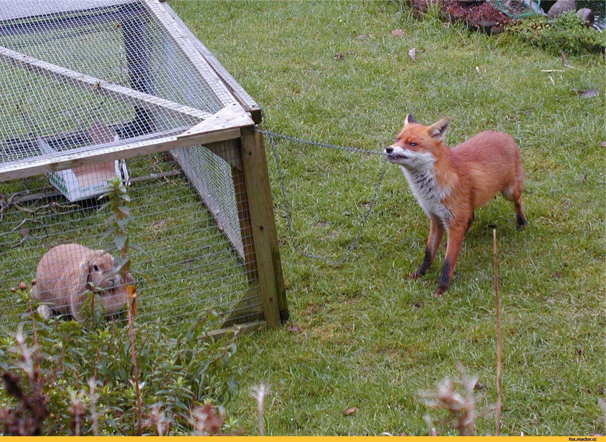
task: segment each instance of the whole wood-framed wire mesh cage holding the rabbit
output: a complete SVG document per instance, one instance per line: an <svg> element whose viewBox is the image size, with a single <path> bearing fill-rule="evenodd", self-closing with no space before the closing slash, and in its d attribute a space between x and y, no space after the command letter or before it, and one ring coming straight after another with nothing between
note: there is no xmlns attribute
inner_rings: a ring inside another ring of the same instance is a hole
<svg viewBox="0 0 606 442"><path fill-rule="evenodd" d="M99 195L116 174L148 253L132 256L150 278L136 281L139 317L279 324L260 109L168 5L0 2L0 61L0 327L18 321L21 281L38 280L45 314L76 319L73 294L123 290L100 264Z"/></svg>

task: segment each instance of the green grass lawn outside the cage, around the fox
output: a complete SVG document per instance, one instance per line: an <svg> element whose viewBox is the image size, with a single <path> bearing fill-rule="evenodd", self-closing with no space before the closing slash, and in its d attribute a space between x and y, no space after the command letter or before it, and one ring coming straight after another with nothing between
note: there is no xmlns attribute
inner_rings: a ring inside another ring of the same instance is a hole
<svg viewBox="0 0 606 442"><path fill-rule="evenodd" d="M250 386L265 382L272 435L428 433L419 391L460 362L496 398L492 228L499 235L502 434L604 434L604 58L570 56L413 19L395 2L174 2L191 30L265 112L265 127L381 150L407 113L452 118L451 146L482 130L522 149L529 226L498 197L476 212L451 290L433 299L442 249L421 280L428 221L390 167L350 262L296 252L270 157L282 264L296 326L245 338L226 404L255 434ZM404 35L392 35L401 29ZM418 51L416 62L408 55ZM542 70L556 70L545 73ZM577 91L601 90L579 99ZM344 256L373 195L379 157L279 143L296 241ZM353 415L344 410L357 407ZM434 421L441 416L431 412ZM454 430L439 429L454 434ZM494 431L493 417L479 420Z"/></svg>

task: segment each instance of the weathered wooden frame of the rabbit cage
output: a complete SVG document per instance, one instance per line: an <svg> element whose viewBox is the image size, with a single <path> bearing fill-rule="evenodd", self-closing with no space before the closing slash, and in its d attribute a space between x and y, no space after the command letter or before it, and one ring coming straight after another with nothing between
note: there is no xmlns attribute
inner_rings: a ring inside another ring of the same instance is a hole
<svg viewBox="0 0 606 442"><path fill-rule="evenodd" d="M201 146L224 159L231 166L231 176L235 187L236 203L238 205L240 234L242 236L244 268L248 278L247 295L233 311L245 310L247 299L251 295L261 299L261 314L228 317L220 329L211 332L219 336L230 332L246 333L259 328L277 328L288 319L288 307L285 296L284 277L276 234L276 225L271 197L270 181L267 169L264 140L256 130L261 123L262 113L258 104L222 67L210 51L200 42L168 4L158 0L143 0L147 12L155 16L164 31L170 36L205 78L212 73L209 84L211 87L221 87L222 93L228 91L233 97L230 105L215 114L189 108L185 105L151 96L145 89L145 84L131 78L132 88L108 83L97 78L57 67L44 61L19 54L7 48L0 47L0 62L16 65L55 81L65 82L76 87L85 88L98 94L111 94L112 98L128 97L135 101L137 116L145 114L145 110L158 107L170 108L184 114L196 116L202 121L180 134L150 139L135 140L121 145L99 146L96 150L75 149L67 150L48 158L29 159L27 162L0 163L0 182L39 174L52 173L59 170L93 165L145 154L162 151L178 152L181 148ZM70 21L77 17L66 19L60 26L69 27ZM0 22L1 25L1 22ZM16 26L10 30L23 33L25 30ZM129 68L141 68L141 59L136 56L125 38L127 63ZM204 67L201 70L200 67ZM77 137L78 134L68 134ZM227 142L227 143L226 143ZM229 146L228 150L225 146ZM173 154L179 163L179 156ZM182 168L183 169L183 168ZM187 171L185 171L187 175ZM204 195L200 193L204 200ZM208 205L208 202L206 202Z"/></svg>

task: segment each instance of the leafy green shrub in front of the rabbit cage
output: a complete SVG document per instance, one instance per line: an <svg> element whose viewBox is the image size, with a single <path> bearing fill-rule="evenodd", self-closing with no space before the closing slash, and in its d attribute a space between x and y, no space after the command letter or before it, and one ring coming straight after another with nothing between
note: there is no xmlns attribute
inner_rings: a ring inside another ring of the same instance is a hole
<svg viewBox="0 0 606 442"><path fill-rule="evenodd" d="M28 291L22 294L28 297ZM28 373L35 367L48 410L42 434L73 434L78 403L82 408L79 434L137 434L127 322L42 320L37 312L29 311L24 317L30 318L30 323L17 337L0 340L0 369L20 380L22 373L29 378ZM229 364L236 351L235 337L208 338L211 318L211 313L205 314L176 335L160 323L135 322L144 414L160 409L170 424L170 434L189 434L190 410L203 401L221 402L235 388L236 368ZM22 382L24 396L33 397L34 385ZM0 421L2 412L17 409L21 402L7 388L2 389ZM6 432L6 427L2 431ZM155 431L152 428L147 432Z"/></svg>

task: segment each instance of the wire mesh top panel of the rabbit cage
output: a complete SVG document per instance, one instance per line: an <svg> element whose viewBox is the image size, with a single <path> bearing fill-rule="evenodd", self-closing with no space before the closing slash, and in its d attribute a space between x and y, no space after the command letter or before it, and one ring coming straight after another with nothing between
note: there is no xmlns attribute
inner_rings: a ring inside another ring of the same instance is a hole
<svg viewBox="0 0 606 442"><path fill-rule="evenodd" d="M0 2L0 160L182 133L235 99L164 10L147 1ZM192 60L193 58L193 60ZM59 136L61 135L61 136Z"/></svg>

